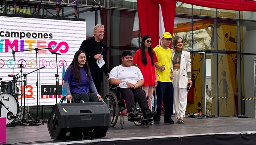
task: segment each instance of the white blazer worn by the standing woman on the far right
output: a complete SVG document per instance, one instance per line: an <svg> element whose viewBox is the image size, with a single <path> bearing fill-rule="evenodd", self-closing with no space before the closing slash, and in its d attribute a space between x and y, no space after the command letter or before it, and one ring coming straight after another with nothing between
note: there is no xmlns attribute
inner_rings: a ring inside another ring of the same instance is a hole
<svg viewBox="0 0 256 145"><path fill-rule="evenodd" d="M174 49L172 49L172 60L171 60L171 69L172 72L173 70L173 57L174 57ZM187 77L187 72L191 72L191 59L190 59L190 52L182 50L181 52L181 59L180 59L180 81L179 81L179 88L186 88L187 87L187 82L188 78L191 76Z"/></svg>

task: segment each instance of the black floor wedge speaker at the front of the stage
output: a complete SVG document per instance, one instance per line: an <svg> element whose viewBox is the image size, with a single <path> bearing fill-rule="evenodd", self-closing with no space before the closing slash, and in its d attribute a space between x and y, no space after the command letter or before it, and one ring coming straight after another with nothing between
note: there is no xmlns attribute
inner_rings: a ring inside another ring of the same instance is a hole
<svg viewBox="0 0 256 145"><path fill-rule="evenodd" d="M100 138L110 127L110 112L105 102L57 103L47 127L56 140Z"/></svg>

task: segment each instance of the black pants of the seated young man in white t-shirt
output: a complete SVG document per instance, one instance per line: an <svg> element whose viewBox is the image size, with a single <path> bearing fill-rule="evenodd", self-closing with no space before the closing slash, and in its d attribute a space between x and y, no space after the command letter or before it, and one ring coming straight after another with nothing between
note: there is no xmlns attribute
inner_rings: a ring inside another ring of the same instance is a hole
<svg viewBox="0 0 256 145"><path fill-rule="evenodd" d="M138 102L139 107L143 113L146 110L149 110L146 93L141 88L117 88L117 91L119 91L121 93L121 97L125 99L128 112L131 110L131 108L136 108L135 102Z"/></svg>

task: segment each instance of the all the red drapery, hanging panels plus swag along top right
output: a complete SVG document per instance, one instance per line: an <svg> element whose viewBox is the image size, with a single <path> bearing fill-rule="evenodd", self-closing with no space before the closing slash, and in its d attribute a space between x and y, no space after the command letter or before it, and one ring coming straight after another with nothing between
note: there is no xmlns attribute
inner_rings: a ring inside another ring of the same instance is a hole
<svg viewBox="0 0 256 145"><path fill-rule="evenodd" d="M197 6L237 11L256 11L255 0L178 0ZM159 4L165 32L173 33L176 0L137 0L141 37L151 36L152 47L159 44Z"/></svg>

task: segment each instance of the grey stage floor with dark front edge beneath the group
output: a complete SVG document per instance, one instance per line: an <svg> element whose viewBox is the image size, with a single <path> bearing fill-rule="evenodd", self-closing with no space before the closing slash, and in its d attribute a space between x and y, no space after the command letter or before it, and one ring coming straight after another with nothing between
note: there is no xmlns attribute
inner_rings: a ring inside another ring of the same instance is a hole
<svg viewBox="0 0 256 145"><path fill-rule="evenodd" d="M175 120L175 117L173 117ZM7 127L7 142L15 144L96 144L96 145L125 145L125 144L256 144L256 119L237 117L190 118L186 115L185 124L166 124L136 126L127 121L121 129L120 117L114 127L110 127L107 135L98 139L56 141L51 139L47 124L32 126Z"/></svg>

